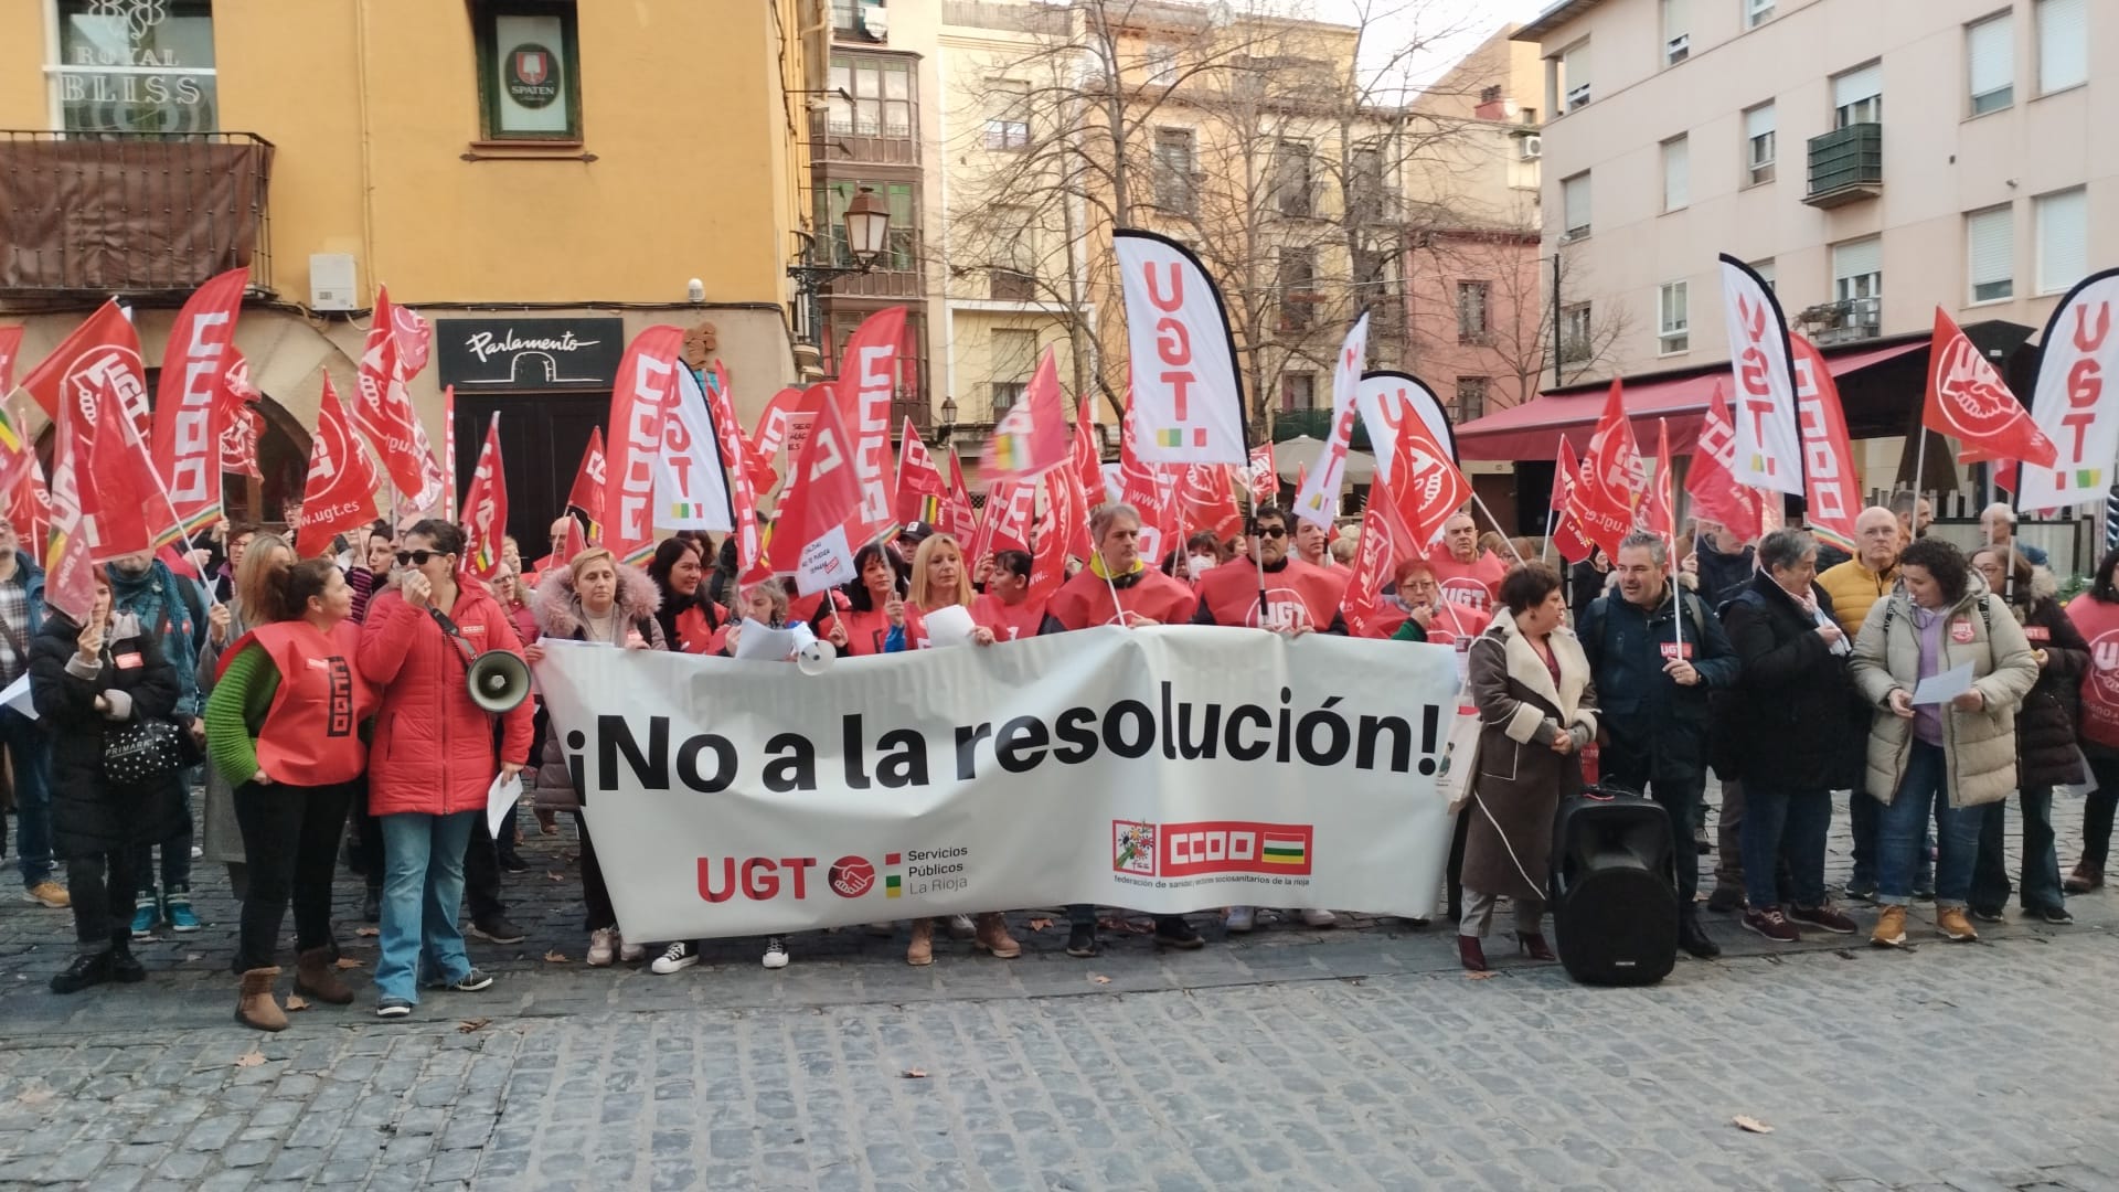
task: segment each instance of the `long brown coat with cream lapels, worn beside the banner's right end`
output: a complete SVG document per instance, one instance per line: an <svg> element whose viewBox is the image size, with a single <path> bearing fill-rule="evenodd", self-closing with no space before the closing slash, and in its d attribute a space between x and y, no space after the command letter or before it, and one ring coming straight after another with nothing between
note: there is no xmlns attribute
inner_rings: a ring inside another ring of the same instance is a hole
<svg viewBox="0 0 2119 1192"><path fill-rule="evenodd" d="M1577 744L1596 740L1596 689L1574 630L1547 638L1560 662L1560 685L1515 628L1507 609L1471 645L1466 685L1479 708L1479 772L1464 812L1464 889L1509 897L1547 897L1553 814L1581 789L1581 753L1551 751L1553 736L1581 728Z"/></svg>

